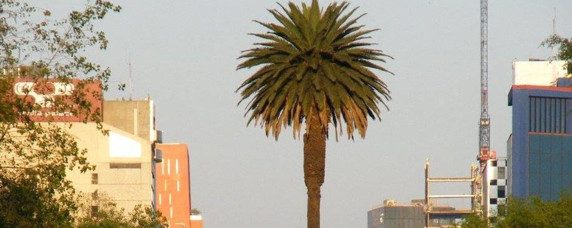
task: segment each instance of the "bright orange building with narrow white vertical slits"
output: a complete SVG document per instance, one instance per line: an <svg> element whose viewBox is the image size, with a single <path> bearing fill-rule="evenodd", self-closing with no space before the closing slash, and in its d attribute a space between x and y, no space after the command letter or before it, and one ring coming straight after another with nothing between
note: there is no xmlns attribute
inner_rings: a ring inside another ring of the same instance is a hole
<svg viewBox="0 0 572 228"><path fill-rule="evenodd" d="M191 226L189 151L186 144L158 144L163 162L157 163L157 210L167 218L169 227L201 228ZM195 222L193 222L195 223Z"/></svg>

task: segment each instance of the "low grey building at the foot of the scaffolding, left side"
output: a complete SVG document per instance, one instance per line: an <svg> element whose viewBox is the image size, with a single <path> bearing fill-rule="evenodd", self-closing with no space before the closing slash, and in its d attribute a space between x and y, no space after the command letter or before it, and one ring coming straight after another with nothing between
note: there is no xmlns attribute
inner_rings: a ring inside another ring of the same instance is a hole
<svg viewBox="0 0 572 228"><path fill-rule="evenodd" d="M438 211L455 211L450 206L432 206ZM431 227L453 225L455 219L431 219ZM367 211L367 228L423 228L425 227L425 206L423 199L414 199L410 204L399 204L392 199L383 205Z"/></svg>

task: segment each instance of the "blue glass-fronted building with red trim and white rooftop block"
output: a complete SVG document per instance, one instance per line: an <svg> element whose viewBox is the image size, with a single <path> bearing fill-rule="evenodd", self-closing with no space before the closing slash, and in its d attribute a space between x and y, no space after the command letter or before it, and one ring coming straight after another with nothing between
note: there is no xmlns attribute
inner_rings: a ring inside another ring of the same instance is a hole
<svg viewBox="0 0 572 228"><path fill-rule="evenodd" d="M509 93L507 186L514 197L559 198L572 189L572 69L563 61L514 62Z"/></svg>

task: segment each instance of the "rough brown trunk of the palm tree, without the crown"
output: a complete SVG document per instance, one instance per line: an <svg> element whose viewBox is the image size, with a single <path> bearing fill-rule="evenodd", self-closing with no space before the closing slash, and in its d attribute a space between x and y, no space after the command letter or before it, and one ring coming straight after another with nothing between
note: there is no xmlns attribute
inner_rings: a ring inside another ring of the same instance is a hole
<svg viewBox="0 0 572 228"><path fill-rule="evenodd" d="M320 187L324 183L325 134L320 118L311 115L304 134L304 182L308 189L308 228L320 228Z"/></svg>

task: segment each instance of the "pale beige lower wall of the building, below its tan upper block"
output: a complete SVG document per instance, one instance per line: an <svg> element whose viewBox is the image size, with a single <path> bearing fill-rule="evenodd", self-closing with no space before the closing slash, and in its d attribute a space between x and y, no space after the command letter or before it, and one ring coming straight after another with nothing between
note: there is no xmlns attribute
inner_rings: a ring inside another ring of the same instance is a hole
<svg viewBox="0 0 572 228"><path fill-rule="evenodd" d="M152 186L152 146L151 142L136 137L116 127L103 124L110 135L97 130L96 123L74 123L69 129L76 135L78 147L88 150L88 162L96 165L96 170L80 173L67 171L67 178L73 182L78 192L105 193L112 197L118 206L132 210L135 205L151 205ZM111 135L122 137L123 143L110 140ZM125 147L124 144L130 146ZM138 147L137 147L138 146ZM118 148L120 147L120 148ZM121 150L139 150L138 153L113 155L110 152ZM97 174L97 183L92 183L92 174Z"/></svg>

